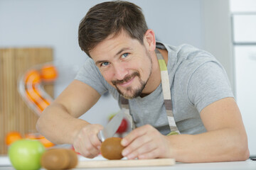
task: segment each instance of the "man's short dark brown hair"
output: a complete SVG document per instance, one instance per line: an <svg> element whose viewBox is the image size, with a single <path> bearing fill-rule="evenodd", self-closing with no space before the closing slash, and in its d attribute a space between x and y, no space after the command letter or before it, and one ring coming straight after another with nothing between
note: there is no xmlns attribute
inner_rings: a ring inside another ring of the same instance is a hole
<svg viewBox="0 0 256 170"><path fill-rule="evenodd" d="M90 8L80 22L80 48L90 57L90 50L98 43L109 35L118 35L122 30L143 44L148 27L142 8L128 1L107 1L97 4Z"/></svg>

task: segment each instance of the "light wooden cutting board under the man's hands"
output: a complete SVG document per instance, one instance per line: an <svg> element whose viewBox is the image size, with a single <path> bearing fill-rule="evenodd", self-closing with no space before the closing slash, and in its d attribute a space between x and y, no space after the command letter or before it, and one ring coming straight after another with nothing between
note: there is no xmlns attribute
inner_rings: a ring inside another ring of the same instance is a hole
<svg viewBox="0 0 256 170"><path fill-rule="evenodd" d="M100 160L80 161L75 168L110 168L132 166L172 166L175 159L132 159L132 160Z"/></svg>

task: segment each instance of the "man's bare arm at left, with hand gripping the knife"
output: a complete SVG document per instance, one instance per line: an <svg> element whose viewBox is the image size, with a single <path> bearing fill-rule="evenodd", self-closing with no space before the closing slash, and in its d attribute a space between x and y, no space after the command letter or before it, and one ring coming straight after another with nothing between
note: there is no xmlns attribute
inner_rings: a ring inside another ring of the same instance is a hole
<svg viewBox="0 0 256 170"><path fill-rule="evenodd" d="M74 80L41 113L36 124L38 132L55 144L73 144L76 151L85 157L98 154L99 149L95 148L100 145L100 141L97 140L95 134L102 129L102 126L90 125L78 118L95 105L99 98L100 94L91 86ZM93 153L85 153L86 149L83 145L88 147L87 150L91 149Z"/></svg>

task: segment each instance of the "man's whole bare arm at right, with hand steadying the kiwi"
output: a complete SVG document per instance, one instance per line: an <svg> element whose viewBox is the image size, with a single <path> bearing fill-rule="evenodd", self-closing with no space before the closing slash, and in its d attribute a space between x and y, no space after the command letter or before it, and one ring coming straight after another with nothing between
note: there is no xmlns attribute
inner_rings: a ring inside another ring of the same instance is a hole
<svg viewBox="0 0 256 170"><path fill-rule="evenodd" d="M223 98L201 111L207 132L164 136L149 125L122 140L129 159L175 158L177 162L225 162L248 159L247 135L233 98Z"/></svg>

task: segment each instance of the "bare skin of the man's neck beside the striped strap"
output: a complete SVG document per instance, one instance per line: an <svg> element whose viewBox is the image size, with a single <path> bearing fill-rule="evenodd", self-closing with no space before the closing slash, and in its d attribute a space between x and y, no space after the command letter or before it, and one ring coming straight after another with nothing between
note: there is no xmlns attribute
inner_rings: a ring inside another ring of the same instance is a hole
<svg viewBox="0 0 256 170"><path fill-rule="evenodd" d="M161 55L163 55L164 60L167 65L167 62L168 62L167 50L159 49L159 52L161 53ZM160 70L159 62L157 60L155 52L151 53L151 59L152 59L151 76L149 77L149 80L147 81L146 86L145 86L144 90L142 91L141 97L151 94L154 90L156 90L156 88L159 86L159 84L161 84L161 70Z"/></svg>

